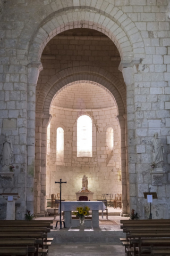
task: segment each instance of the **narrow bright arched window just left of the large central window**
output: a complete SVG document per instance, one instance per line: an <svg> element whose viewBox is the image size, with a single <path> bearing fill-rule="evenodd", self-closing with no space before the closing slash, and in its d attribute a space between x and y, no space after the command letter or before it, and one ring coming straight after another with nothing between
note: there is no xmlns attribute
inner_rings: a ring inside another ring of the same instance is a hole
<svg viewBox="0 0 170 256"><path fill-rule="evenodd" d="M61 127L57 128L56 141L56 164L64 165L64 130Z"/></svg>

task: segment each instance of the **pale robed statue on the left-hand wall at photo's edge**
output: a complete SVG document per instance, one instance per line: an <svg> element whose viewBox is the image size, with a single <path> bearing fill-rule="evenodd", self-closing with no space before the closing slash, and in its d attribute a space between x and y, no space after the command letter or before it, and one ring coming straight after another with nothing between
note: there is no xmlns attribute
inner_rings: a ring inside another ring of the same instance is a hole
<svg viewBox="0 0 170 256"><path fill-rule="evenodd" d="M5 134L5 139L2 143L2 166L9 166L11 165L12 158L13 158L13 146L12 141L8 137L8 134Z"/></svg>

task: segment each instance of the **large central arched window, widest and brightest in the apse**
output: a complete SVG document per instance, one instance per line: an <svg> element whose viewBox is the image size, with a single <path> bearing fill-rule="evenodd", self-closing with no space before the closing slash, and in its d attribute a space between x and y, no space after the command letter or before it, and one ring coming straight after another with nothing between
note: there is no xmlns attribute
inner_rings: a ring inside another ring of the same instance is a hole
<svg viewBox="0 0 170 256"><path fill-rule="evenodd" d="M77 157L92 157L92 120L86 115L77 122Z"/></svg>

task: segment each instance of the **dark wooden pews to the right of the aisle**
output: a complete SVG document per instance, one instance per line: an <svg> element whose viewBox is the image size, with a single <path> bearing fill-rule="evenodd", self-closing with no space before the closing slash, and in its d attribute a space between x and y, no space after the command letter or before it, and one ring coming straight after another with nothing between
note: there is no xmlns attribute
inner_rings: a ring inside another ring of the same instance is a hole
<svg viewBox="0 0 170 256"><path fill-rule="evenodd" d="M170 220L121 220L121 224L127 256L170 255Z"/></svg>

